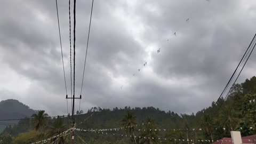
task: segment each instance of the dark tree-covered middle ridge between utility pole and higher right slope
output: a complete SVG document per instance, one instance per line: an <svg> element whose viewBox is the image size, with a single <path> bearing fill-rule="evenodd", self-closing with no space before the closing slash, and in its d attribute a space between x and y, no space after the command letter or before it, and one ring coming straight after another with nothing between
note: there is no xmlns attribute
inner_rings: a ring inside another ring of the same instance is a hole
<svg viewBox="0 0 256 144"><path fill-rule="evenodd" d="M121 125L121 119L123 116L126 114L126 112L130 110L134 115L136 116L136 122L139 124L145 123L146 122L146 117L151 117L155 119L156 124L158 124L160 127L173 127L173 128L178 128L184 124L183 118L175 114L174 112L169 111L168 113L165 113L165 111L159 110L158 108L154 107L144 107L144 108L130 108L130 107L125 107L123 109L118 109L114 108L113 110L110 109L100 109L99 108L93 108L92 112L89 114L93 113L93 111L97 111L96 113L94 112L94 116L89 119L87 122L87 126L94 126L97 128L100 127L113 127L113 126L120 126ZM99 112L100 111L100 112ZM79 119L85 119L87 115L81 115L79 116ZM184 115L185 116L185 115ZM191 119L191 122L195 121L195 116L188 116L189 119ZM78 117L76 118L78 119Z"/></svg>

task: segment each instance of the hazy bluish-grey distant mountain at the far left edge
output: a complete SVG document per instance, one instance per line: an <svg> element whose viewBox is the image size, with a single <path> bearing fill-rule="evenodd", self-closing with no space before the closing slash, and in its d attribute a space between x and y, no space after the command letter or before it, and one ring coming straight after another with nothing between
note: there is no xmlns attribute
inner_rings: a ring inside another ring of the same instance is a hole
<svg viewBox="0 0 256 144"><path fill-rule="evenodd" d="M35 114L35 110L29 108L18 100L8 99L0 102L0 119L18 119L30 117L33 114ZM1 123L5 122L10 123L10 121L1 121ZM11 121L11 123L18 123L18 121ZM6 125L0 125L0 133L5 127Z"/></svg>

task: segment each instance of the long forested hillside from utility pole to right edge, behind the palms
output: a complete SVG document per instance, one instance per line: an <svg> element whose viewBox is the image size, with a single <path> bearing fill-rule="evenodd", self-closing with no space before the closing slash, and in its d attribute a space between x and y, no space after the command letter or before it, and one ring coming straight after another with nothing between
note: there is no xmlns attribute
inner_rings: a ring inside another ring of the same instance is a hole
<svg viewBox="0 0 256 144"><path fill-rule="evenodd" d="M255 101L253 102L253 100ZM165 113L165 111L154 107L125 107L113 110L94 107L89 110L88 114L93 111L94 115L89 118L89 121L79 127L83 129L118 127L122 124L121 121L124 115L127 115L127 111L131 111L136 117L134 121L138 125L147 123L147 117L151 117L154 119L155 127L169 130L159 133L158 137L195 139L196 133L196 139L218 140L230 137L232 130L241 131L243 136L252 135L256 134L256 77L246 79L244 83L235 84L226 99L221 98L218 103L212 102L212 106L198 111L195 115L179 115L171 111ZM86 115L80 116L79 119L85 119ZM177 132L178 129L183 131ZM199 129L202 131L198 131ZM135 134L141 135L142 133L136 132ZM88 139L97 137L89 133L82 133L82 135ZM105 137L102 139L104 141Z"/></svg>

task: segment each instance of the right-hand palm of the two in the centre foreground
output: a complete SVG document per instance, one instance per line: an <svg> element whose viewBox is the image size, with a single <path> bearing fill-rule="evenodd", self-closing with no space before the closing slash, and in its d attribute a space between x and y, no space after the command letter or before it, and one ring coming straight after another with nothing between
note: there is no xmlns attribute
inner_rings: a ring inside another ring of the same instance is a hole
<svg viewBox="0 0 256 144"><path fill-rule="evenodd" d="M155 144L158 143L158 132L155 131L157 126L155 125L154 120L151 117L147 117L147 123L144 125L141 133L141 144ZM145 137L145 138L144 138Z"/></svg>

